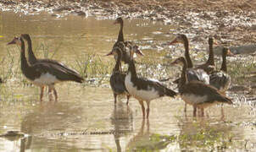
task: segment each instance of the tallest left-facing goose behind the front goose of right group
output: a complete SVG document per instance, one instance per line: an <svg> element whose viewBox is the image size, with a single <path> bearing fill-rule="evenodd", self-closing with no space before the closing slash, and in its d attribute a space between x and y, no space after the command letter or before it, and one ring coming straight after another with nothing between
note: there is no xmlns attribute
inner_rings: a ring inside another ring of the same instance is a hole
<svg viewBox="0 0 256 152"><path fill-rule="evenodd" d="M204 84L209 84L209 74L203 71L201 68L193 68L193 63L189 55L189 42L186 35L178 34L173 41L170 42L170 45L175 43L182 43L185 47L185 57L187 61L186 68L186 77L188 81L198 80ZM180 84L181 78L174 81L175 84ZM184 106L184 111L186 112L186 102Z"/></svg>

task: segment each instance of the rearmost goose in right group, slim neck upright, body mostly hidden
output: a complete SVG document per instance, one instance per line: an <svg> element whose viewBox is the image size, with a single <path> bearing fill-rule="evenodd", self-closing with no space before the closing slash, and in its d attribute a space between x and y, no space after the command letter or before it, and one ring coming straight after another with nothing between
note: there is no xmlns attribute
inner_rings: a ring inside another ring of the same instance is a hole
<svg viewBox="0 0 256 152"><path fill-rule="evenodd" d="M203 69L206 73L211 73L215 70L215 63L214 63L214 49L213 49L213 45L214 45L214 38L213 37L209 37L209 57L207 62L205 62L204 64L199 65L197 68L201 68Z"/></svg>

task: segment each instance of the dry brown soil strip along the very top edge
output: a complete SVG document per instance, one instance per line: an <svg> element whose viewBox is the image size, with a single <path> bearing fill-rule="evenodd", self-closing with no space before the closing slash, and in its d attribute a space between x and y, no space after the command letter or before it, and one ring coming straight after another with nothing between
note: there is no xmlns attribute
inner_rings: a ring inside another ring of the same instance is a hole
<svg viewBox="0 0 256 152"><path fill-rule="evenodd" d="M22 2L35 3L37 0L0 0L0 3ZM79 3L80 0L42 0L42 3ZM227 10L227 11L254 11L256 1L253 0L84 0L84 3L115 3L118 6L140 7L143 10L159 7L171 8L173 10Z"/></svg>

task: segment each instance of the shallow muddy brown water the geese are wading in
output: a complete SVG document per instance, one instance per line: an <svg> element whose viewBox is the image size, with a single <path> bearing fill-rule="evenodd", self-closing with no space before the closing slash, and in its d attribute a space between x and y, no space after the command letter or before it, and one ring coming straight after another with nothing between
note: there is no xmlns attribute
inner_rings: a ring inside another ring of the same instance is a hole
<svg viewBox="0 0 256 152"><path fill-rule="evenodd" d="M125 38L141 43L146 57L159 56L153 42L170 39L169 26L145 20L125 20ZM67 16L56 19L47 14L24 16L2 13L1 56L18 49L6 46L14 35L30 33L36 55L58 50L53 58L72 64L87 52L103 55L111 49L119 27L113 20ZM125 98L114 107L109 87L89 87L75 83L57 84L58 102L45 96L38 100L35 86L1 85L0 133L18 130L25 138L0 138L0 151L181 151L256 150L255 112L246 104L207 110L208 117L192 118L192 108L184 115L183 101L167 97L153 100L151 116L142 120L138 102ZM240 99L240 98L237 98ZM239 102L239 100L237 100Z"/></svg>

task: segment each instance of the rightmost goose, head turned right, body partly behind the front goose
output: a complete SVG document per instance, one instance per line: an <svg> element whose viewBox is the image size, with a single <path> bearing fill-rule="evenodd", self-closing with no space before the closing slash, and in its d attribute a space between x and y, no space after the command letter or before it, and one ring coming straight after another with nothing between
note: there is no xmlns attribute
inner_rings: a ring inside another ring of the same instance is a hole
<svg viewBox="0 0 256 152"><path fill-rule="evenodd" d="M231 85L231 76L227 73L226 56L231 54L231 51L226 47L222 49L222 64L220 71L214 71L209 75L209 84L214 86L220 92L225 93Z"/></svg>

